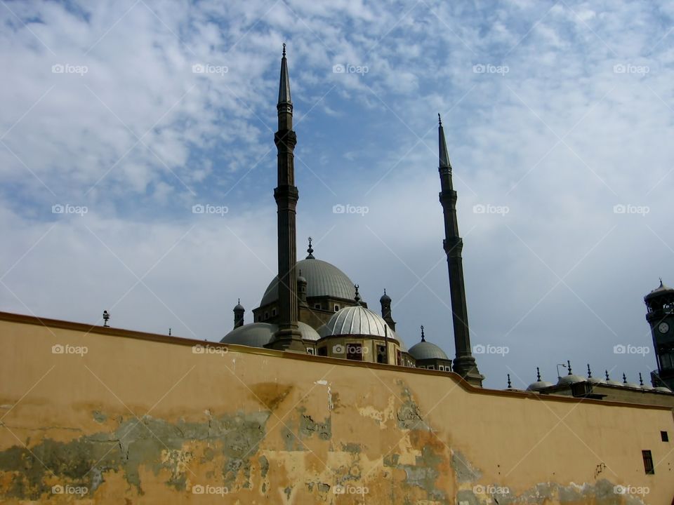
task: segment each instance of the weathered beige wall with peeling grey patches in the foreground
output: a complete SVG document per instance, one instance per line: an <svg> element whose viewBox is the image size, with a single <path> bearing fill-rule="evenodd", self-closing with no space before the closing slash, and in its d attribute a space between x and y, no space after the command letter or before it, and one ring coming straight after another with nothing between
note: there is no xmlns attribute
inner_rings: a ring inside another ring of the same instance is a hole
<svg viewBox="0 0 674 505"><path fill-rule="evenodd" d="M0 314L4 503L674 497L674 445L660 437L674 440L667 408L479 391L444 372L263 349L194 353L199 342L36 322ZM71 347L53 354L59 345Z"/></svg>

